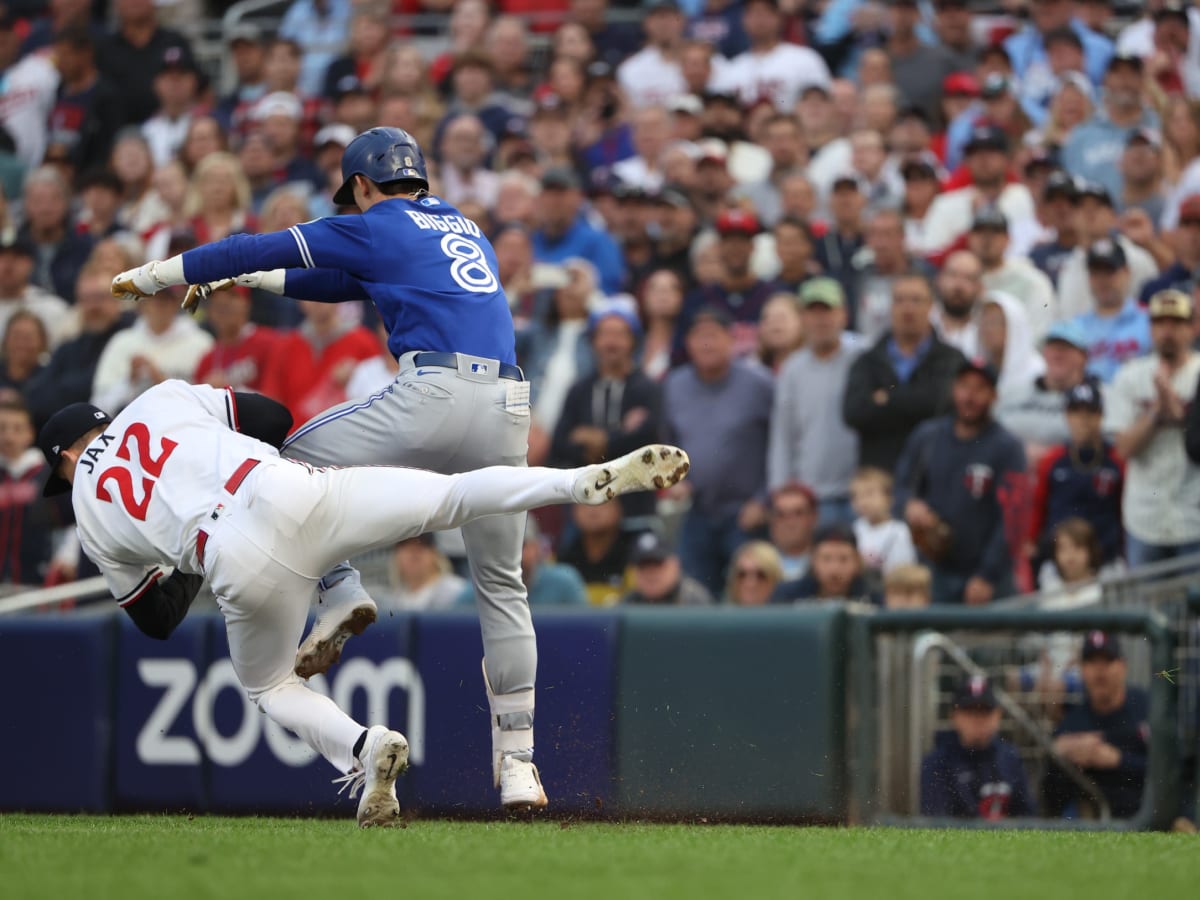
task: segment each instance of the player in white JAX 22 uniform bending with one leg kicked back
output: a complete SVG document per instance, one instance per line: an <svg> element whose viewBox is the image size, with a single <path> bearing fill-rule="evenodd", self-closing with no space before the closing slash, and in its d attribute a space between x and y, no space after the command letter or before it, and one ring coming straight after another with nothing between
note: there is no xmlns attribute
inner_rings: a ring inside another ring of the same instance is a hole
<svg viewBox="0 0 1200 900"><path fill-rule="evenodd" d="M655 445L580 469L324 469L280 457L290 426L265 397L179 380L151 388L116 419L74 403L38 436L53 473L46 493L72 492L84 551L150 636L168 637L206 582L250 698L344 773L336 781L352 797L362 791L360 826L391 826L396 776L408 764L404 736L359 725L294 671L322 574L480 516L670 486L688 458Z"/></svg>

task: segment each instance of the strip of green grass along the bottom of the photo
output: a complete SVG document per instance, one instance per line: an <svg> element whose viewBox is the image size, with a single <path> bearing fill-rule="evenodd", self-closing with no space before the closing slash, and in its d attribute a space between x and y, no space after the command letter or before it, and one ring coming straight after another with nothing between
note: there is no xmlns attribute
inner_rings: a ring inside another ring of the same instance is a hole
<svg viewBox="0 0 1200 900"><path fill-rule="evenodd" d="M0 815L11 900L1198 895L1177 834Z"/></svg>

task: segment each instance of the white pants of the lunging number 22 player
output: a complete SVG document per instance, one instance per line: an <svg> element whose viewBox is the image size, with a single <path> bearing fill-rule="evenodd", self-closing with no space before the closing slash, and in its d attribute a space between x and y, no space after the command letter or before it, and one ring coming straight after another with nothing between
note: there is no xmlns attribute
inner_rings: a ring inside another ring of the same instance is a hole
<svg viewBox="0 0 1200 900"><path fill-rule="evenodd" d="M571 503L577 470L491 467L457 475L264 460L206 527L204 570L248 696L341 772L362 732L294 673L317 582L347 557L481 516Z"/></svg>

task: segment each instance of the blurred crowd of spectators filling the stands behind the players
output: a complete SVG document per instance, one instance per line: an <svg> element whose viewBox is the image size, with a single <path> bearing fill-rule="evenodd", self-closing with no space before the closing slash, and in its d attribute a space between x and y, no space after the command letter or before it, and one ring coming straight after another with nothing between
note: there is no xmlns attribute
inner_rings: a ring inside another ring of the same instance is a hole
<svg viewBox="0 0 1200 900"><path fill-rule="evenodd" d="M226 83L205 12L0 6L4 581L88 571L31 450L60 406L185 378L300 424L395 378L359 302L108 294L353 212L377 124L494 244L530 464L691 455L664 496L540 512L533 602L1087 602L1200 550L1200 8L295 0L227 31ZM382 600L467 604L456 565L407 541Z"/></svg>

